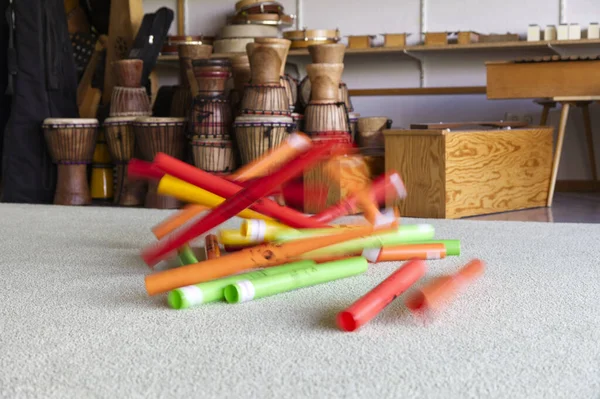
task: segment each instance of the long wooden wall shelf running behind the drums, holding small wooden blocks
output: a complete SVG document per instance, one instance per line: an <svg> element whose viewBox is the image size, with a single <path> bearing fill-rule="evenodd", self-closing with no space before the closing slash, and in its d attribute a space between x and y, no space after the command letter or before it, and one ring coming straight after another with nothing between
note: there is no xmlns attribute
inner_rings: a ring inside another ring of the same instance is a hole
<svg viewBox="0 0 600 399"><path fill-rule="evenodd" d="M472 44L448 44L446 46L425 46L416 45L408 47L371 47L366 49L346 49L347 55L353 54L424 54L424 53L436 53L436 52L464 52L464 51L502 51L502 50L545 50L549 52L556 52L555 49L592 49L598 47L598 54L600 54L600 40L599 39L582 39L582 40L552 40L552 41L539 41L539 42L500 42L500 43L472 43ZM214 53L212 58L230 58L235 55L244 53ZM290 57L302 57L309 56L308 50L306 49L294 49L290 50ZM161 55L158 60L160 62L174 62L178 60L177 55Z"/></svg>

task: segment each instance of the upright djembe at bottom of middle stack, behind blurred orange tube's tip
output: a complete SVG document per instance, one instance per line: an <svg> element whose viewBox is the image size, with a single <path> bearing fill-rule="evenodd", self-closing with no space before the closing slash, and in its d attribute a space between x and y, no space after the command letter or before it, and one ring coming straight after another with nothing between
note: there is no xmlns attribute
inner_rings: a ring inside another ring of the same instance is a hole
<svg viewBox="0 0 600 399"><path fill-rule="evenodd" d="M234 122L236 143L243 164L279 147L294 130L289 116L242 115Z"/></svg>

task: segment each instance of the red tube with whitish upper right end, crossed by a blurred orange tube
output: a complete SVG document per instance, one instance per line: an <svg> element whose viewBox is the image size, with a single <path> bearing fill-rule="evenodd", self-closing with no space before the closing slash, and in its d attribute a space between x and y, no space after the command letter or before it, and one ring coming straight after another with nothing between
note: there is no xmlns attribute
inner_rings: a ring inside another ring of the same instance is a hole
<svg viewBox="0 0 600 399"><path fill-rule="evenodd" d="M371 185L371 195L377 204L386 202L386 197L392 195L394 198L404 198L406 189L400 175L392 171L384 176L378 177ZM312 217L322 223L331 223L337 218L359 212L360 205L357 195L348 196L343 201L325 209Z"/></svg>

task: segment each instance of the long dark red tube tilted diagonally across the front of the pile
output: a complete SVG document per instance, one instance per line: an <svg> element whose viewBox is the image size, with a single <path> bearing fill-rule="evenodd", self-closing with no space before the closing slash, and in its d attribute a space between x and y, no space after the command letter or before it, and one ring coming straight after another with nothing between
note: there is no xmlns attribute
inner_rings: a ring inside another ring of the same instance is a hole
<svg viewBox="0 0 600 399"><path fill-rule="evenodd" d="M142 251L142 259L149 266L154 266L165 260L171 254L176 253L177 249L184 244L237 215L240 211L263 198L265 193L270 192L273 188L302 173L304 169L310 168L319 162L331 151L332 145L315 145L311 150L288 162L273 174L256 180L233 197L226 199L219 206L213 208L209 214L190 227L182 229L182 231L176 231L172 237L165 237L157 244L146 248Z"/></svg>

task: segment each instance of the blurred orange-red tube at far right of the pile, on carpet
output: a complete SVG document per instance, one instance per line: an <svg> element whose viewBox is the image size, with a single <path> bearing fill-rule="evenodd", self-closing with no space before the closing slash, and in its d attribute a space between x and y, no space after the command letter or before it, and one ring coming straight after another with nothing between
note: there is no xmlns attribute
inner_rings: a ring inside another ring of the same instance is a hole
<svg viewBox="0 0 600 399"><path fill-rule="evenodd" d="M456 295L460 288L479 277L485 268L484 263L474 259L456 274L436 278L425 287L410 295L405 303L413 312L439 310Z"/></svg>

